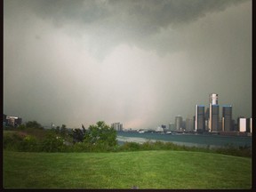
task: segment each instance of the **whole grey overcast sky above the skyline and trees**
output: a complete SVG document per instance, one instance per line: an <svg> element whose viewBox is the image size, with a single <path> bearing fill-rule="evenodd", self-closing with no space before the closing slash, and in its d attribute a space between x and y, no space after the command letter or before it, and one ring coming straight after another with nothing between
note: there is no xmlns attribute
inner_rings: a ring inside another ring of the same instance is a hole
<svg viewBox="0 0 256 192"><path fill-rule="evenodd" d="M252 1L4 0L4 114L156 128L210 93L252 116Z"/></svg>

